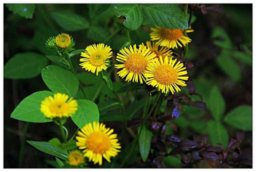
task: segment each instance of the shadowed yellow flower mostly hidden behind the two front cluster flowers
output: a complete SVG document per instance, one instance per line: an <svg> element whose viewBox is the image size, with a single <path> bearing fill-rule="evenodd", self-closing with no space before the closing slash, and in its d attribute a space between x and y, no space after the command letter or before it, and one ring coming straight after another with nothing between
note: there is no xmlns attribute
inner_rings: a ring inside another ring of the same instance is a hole
<svg viewBox="0 0 256 172"><path fill-rule="evenodd" d="M150 41L147 41L147 48L148 49L150 49L150 51L151 52L154 52L155 54L156 54L156 57L155 58L158 58L159 59L159 57L160 56L162 56L162 57L166 57L166 56L168 56L168 57L173 57L171 54L173 53L172 51L171 51L171 49L168 49L167 47L164 47L164 46L162 46L160 49L159 49L159 45L158 44L156 44L156 42L152 42L152 44L150 43ZM139 46L142 46L142 49L144 49L144 47L145 47L145 45L142 43L142 44L140 44Z"/></svg>

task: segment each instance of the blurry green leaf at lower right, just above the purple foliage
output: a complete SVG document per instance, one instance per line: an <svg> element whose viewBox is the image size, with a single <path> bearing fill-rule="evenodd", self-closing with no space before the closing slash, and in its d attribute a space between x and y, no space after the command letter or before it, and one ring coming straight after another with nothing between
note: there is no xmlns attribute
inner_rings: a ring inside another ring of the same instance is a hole
<svg viewBox="0 0 256 172"><path fill-rule="evenodd" d="M221 143L224 149L228 146L228 131L222 123L210 120L207 124L210 142L214 145Z"/></svg>

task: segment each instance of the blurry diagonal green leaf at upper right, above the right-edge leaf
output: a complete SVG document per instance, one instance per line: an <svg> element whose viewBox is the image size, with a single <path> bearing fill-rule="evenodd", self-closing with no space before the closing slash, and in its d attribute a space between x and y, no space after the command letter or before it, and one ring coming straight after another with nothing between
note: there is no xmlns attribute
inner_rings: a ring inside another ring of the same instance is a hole
<svg viewBox="0 0 256 172"><path fill-rule="evenodd" d="M223 72L230 76L234 81L241 80L241 70L239 65L233 58L231 58L232 52L228 50L222 50L222 53L217 57L217 64L223 70Z"/></svg>

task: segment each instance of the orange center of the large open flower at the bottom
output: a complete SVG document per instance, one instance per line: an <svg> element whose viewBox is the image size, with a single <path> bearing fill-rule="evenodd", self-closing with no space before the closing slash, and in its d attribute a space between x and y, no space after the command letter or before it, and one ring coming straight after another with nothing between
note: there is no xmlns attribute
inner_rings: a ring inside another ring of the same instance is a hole
<svg viewBox="0 0 256 172"><path fill-rule="evenodd" d="M109 136L103 132L95 131L88 136L86 147L95 153L104 154L111 147Z"/></svg>

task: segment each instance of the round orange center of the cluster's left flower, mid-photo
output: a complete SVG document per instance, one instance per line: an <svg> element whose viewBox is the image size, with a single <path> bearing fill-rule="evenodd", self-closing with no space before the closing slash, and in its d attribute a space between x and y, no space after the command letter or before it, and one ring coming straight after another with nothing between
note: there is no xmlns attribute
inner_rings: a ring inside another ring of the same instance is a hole
<svg viewBox="0 0 256 172"><path fill-rule="evenodd" d="M139 53L127 57L125 68L132 73L143 73L147 69L147 59Z"/></svg>

